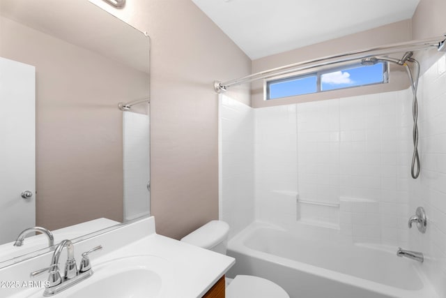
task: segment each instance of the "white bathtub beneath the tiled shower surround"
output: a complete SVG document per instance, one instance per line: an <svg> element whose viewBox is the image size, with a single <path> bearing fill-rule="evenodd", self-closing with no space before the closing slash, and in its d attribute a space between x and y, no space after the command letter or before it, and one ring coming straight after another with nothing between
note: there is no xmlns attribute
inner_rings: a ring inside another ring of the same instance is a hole
<svg viewBox="0 0 446 298"><path fill-rule="evenodd" d="M228 243L236 265L226 276L268 278L291 298L438 298L422 264L399 258L396 251L334 245L252 223Z"/></svg>

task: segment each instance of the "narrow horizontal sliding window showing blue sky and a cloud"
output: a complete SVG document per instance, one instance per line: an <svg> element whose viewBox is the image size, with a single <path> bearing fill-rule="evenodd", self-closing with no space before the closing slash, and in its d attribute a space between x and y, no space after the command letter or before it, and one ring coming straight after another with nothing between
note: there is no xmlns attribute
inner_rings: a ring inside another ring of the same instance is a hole
<svg viewBox="0 0 446 298"><path fill-rule="evenodd" d="M287 75L265 80L265 99L299 96L388 82L387 62L373 66L351 64L305 75Z"/></svg>

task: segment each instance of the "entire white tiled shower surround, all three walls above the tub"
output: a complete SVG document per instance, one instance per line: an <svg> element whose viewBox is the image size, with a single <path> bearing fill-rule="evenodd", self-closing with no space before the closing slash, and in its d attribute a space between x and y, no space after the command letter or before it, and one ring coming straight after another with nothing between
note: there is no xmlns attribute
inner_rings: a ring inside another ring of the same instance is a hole
<svg viewBox="0 0 446 298"><path fill-rule="evenodd" d="M420 81L422 172L416 180L410 177L410 89L259 109L234 100L240 105L239 110L249 114L242 116L243 113L237 112L246 122L234 123L245 123L249 128L231 126L235 135L245 135L247 142L225 141L222 156L233 165L223 163L224 190L228 188L224 191L223 218L236 222L240 230L249 224L248 218L254 219L255 210L255 218L261 221L294 226L306 223L309 229L321 231L322 227L343 239L423 251L427 257L425 267L431 270L432 276L441 276L444 280L445 71L443 57ZM231 100L227 100L229 104ZM255 126L249 124L249 119ZM255 140L249 137L252 132ZM239 175L239 179L228 175ZM240 183L243 179L247 181L245 184ZM249 189L251 186L255 191ZM328 204L298 203L298 193L300 201ZM240 202L243 197L249 198L247 202ZM242 209L231 212L238 205ZM417 206L424 206L428 214L426 234L407 228L408 218ZM317 222L321 224L307 224Z"/></svg>

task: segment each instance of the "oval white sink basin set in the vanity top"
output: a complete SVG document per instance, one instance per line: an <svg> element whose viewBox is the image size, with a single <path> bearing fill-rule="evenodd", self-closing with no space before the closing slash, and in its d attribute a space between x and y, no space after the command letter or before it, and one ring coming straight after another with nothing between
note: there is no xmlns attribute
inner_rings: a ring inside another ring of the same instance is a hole
<svg viewBox="0 0 446 298"><path fill-rule="evenodd" d="M139 255L93 264L94 274L58 296L164 297L171 279L169 261L155 255Z"/></svg>

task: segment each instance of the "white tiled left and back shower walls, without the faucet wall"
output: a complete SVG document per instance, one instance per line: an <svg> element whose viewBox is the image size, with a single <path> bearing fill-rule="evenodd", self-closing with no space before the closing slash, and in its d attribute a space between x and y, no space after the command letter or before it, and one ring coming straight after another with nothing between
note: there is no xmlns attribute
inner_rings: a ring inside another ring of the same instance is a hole
<svg viewBox="0 0 446 298"><path fill-rule="evenodd" d="M252 109L224 96L222 218L239 231L253 207L260 221L404 246L410 101L407 90Z"/></svg>

